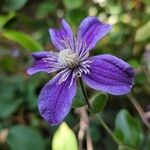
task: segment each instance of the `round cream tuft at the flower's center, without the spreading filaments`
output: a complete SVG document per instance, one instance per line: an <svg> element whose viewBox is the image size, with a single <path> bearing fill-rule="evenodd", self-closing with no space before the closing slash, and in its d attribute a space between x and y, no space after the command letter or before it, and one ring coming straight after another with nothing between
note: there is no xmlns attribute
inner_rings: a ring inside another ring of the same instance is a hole
<svg viewBox="0 0 150 150"><path fill-rule="evenodd" d="M79 57L71 49L64 49L58 54L58 61L69 68L75 68L79 65Z"/></svg>

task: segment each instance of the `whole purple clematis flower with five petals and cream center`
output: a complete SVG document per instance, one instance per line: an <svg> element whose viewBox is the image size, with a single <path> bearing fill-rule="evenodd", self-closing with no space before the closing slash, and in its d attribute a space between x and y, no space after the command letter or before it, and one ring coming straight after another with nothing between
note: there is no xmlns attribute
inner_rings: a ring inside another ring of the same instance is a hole
<svg viewBox="0 0 150 150"><path fill-rule="evenodd" d="M75 37L71 27L62 19L60 29L49 29L57 51L32 54L35 62L27 70L29 75L39 71L59 72L39 95L38 108L48 123L59 124L70 111L78 77L98 91L113 95L130 92L134 71L129 64L110 54L89 57L89 52L111 28L96 17L87 17Z"/></svg>

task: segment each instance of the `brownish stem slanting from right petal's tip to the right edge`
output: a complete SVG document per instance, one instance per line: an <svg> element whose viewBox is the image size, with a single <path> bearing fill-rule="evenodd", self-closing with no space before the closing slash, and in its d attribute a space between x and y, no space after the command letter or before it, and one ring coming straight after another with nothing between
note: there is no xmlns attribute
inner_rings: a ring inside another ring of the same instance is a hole
<svg viewBox="0 0 150 150"><path fill-rule="evenodd" d="M128 94L128 98L129 98L130 102L133 104L133 106L136 108L136 110L139 113L143 123L150 130L149 122L148 122L147 118L145 117L145 112L144 112L143 108L141 107L141 105L138 103L138 101L135 99L135 97L132 96L131 94Z"/></svg>

